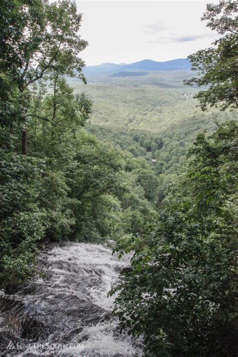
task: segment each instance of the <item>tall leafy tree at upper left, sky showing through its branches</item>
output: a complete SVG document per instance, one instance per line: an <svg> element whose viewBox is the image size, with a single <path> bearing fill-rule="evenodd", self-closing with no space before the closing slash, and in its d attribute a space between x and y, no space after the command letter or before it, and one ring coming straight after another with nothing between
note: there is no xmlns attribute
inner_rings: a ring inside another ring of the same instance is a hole
<svg viewBox="0 0 238 357"><path fill-rule="evenodd" d="M78 57L87 46L78 34L81 18L76 4L70 0L54 3L4 0L0 46L2 87L12 82L20 93L28 93L29 85L55 72L62 76L77 76L85 82L84 62ZM6 96L8 91L1 90L0 93ZM8 107L15 103L11 99L10 91ZM5 113L7 108L3 107L2 111ZM26 154L28 123L24 111L19 120L22 122L22 153ZM6 124L6 116L3 124Z"/></svg>

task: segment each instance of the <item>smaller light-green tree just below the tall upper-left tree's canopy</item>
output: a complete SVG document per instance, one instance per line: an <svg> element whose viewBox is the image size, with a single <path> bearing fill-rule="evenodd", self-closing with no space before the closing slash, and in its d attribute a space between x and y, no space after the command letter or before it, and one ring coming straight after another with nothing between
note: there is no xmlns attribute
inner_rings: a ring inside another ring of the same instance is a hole
<svg viewBox="0 0 238 357"><path fill-rule="evenodd" d="M67 133L76 133L84 126L91 107L92 103L85 94L74 95L73 88L58 73L48 76L47 83L42 80L38 84L35 83L27 113L31 118L29 138L30 143L34 145L34 151L37 151L38 146L38 150L46 155L54 155L54 148L59 149L59 142L64 145L63 138L65 135L67 137ZM45 138L44 143L42 136Z"/></svg>

